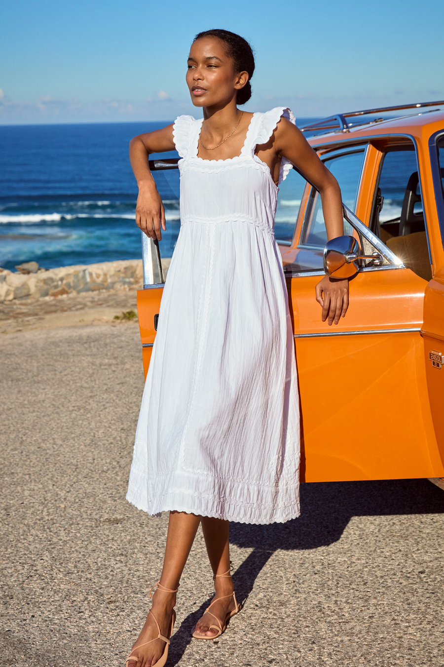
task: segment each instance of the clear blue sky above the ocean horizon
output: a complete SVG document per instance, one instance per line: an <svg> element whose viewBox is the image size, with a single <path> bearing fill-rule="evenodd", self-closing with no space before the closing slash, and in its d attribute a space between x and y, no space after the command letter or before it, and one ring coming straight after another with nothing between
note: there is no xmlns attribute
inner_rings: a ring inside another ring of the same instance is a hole
<svg viewBox="0 0 444 667"><path fill-rule="evenodd" d="M3 0L0 123L193 113L189 45L213 27L255 49L249 111L285 104L307 117L444 99L443 19L444 0Z"/></svg>

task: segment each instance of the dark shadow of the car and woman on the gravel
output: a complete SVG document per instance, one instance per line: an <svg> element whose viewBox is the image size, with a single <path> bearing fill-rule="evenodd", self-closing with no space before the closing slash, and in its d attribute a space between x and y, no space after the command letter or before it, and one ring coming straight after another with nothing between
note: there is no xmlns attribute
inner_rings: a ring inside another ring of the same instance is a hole
<svg viewBox="0 0 444 667"><path fill-rule="evenodd" d="M255 580L276 550L309 550L341 538L353 516L444 513L444 491L428 480L319 482L301 484L301 516L286 524L230 526L230 542L253 551L233 574L236 596L245 604ZM211 602L185 618L174 636L169 667L183 657L194 626Z"/></svg>

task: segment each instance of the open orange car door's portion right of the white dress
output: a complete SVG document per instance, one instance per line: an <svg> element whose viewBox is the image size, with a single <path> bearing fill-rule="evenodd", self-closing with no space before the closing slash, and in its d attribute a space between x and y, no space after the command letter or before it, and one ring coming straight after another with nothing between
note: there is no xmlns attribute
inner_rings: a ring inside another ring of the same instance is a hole
<svg viewBox="0 0 444 667"><path fill-rule="evenodd" d="M301 395L301 480L441 477L421 337L427 283L344 211L345 229L363 253L379 257L351 279L349 309L338 325L321 321L315 301L323 269L286 267Z"/></svg>

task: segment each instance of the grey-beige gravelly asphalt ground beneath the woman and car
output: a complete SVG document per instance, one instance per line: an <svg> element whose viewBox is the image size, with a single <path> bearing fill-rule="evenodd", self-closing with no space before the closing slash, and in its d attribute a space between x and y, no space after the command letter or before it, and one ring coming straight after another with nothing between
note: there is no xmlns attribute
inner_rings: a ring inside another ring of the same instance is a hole
<svg viewBox="0 0 444 667"><path fill-rule="evenodd" d="M0 336L0 665L123 667L161 571L167 516L125 500L143 390L137 323ZM167 666L444 665L444 492L427 480L305 484L301 518L231 527L238 598L212 594L199 532Z"/></svg>

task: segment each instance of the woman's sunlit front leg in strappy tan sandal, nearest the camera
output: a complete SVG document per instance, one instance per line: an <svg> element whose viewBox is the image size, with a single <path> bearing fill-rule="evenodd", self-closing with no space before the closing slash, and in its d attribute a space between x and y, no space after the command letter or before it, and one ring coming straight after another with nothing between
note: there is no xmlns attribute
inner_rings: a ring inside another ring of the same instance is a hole
<svg viewBox="0 0 444 667"><path fill-rule="evenodd" d="M170 512L168 522L167 544L165 546L165 558L163 560L163 569L160 578L162 586L175 590L179 585L181 574L191 547L193 546L197 528L199 528L200 516L195 514L185 514L185 512ZM173 606L176 603L175 593L165 593L157 589L153 595L153 606L151 607L154 616L161 628L161 634L168 636ZM145 625L137 637L133 646L145 644L149 640L157 637L158 630L151 614L148 614ZM157 640L147 646L131 650L131 655L137 656L138 660L131 660L128 667L151 667L159 660L165 650L165 642Z"/></svg>

